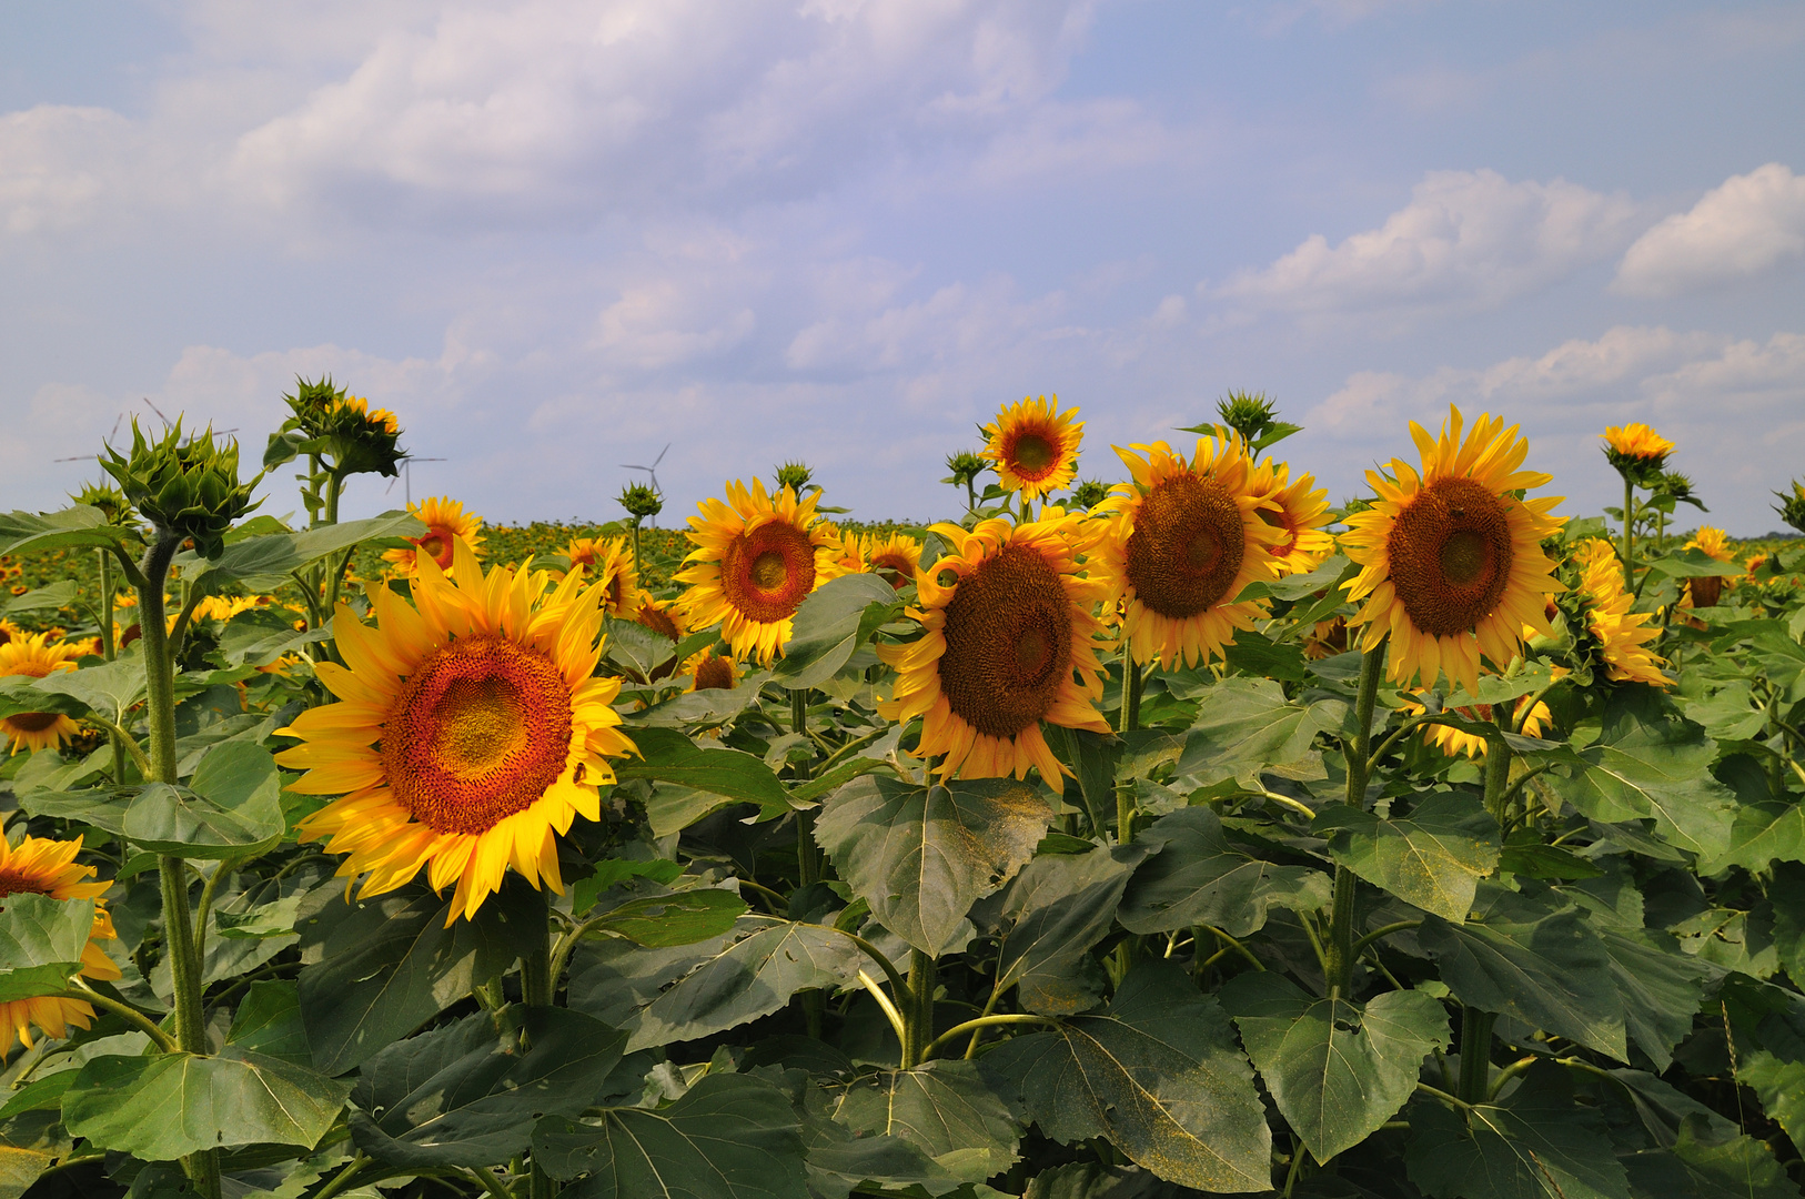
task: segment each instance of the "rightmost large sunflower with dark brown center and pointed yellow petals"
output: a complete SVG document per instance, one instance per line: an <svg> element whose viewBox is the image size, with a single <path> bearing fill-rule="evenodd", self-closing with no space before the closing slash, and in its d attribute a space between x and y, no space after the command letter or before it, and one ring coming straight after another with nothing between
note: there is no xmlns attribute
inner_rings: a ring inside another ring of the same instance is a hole
<svg viewBox="0 0 1805 1199"><path fill-rule="evenodd" d="M1549 482L1518 469L1529 441L1491 415L1466 441L1462 426L1455 406L1440 437L1412 421L1422 473L1399 459L1392 475L1366 471L1377 500L1341 536L1365 567L1347 583L1348 600L1366 600L1348 627L1365 625L1363 652L1392 637L1388 674L1401 686L1433 686L1446 672L1471 692L1480 654L1505 666L1525 628L1552 636L1543 598L1563 590L1540 545L1563 524L1549 515L1560 497L1516 498Z"/></svg>

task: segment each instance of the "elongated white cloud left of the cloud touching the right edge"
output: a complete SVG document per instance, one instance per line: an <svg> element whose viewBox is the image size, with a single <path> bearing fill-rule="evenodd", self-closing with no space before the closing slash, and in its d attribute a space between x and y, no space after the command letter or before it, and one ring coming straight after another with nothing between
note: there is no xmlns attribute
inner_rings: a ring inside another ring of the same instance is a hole
<svg viewBox="0 0 1805 1199"><path fill-rule="evenodd" d="M1377 229L1330 247L1312 235L1264 271L1217 289L1294 312L1361 314L1426 305L1493 307L1606 258L1637 206L1578 184L1511 182L1493 170L1431 172Z"/></svg>

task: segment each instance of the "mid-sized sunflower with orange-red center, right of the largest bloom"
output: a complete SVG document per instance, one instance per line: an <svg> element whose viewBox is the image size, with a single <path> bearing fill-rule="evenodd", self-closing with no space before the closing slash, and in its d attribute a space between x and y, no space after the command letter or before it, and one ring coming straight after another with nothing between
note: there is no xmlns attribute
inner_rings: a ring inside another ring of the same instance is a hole
<svg viewBox="0 0 1805 1199"><path fill-rule="evenodd" d="M753 480L727 484L727 502L702 500L690 518L695 549L677 574L688 583L677 607L702 628L720 621L735 657L769 663L789 641L791 618L816 587L845 574L839 533L818 522L814 491L805 500L783 488L776 497Z"/></svg>

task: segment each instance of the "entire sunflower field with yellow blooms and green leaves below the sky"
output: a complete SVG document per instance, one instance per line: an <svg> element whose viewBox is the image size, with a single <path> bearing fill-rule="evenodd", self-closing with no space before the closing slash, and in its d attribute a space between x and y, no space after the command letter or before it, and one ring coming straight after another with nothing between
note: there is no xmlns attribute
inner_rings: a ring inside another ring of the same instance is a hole
<svg viewBox="0 0 1805 1199"><path fill-rule="evenodd" d="M1653 430L1332 509L1027 399L960 520L529 536L287 401L0 516L5 1197L1801 1194L1805 551Z"/></svg>

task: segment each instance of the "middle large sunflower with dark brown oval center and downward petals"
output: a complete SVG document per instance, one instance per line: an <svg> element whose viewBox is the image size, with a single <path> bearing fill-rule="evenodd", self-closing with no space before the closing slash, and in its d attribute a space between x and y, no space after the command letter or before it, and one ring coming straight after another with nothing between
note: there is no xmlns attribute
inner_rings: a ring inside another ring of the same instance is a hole
<svg viewBox="0 0 1805 1199"><path fill-rule="evenodd" d="M915 574L919 607L908 614L924 636L877 648L899 674L877 711L888 720L922 717L915 753L946 755L935 767L942 778L1025 778L1038 766L1047 785L1063 791L1041 720L1110 731L1096 710L1103 666L1092 616L1108 585L1078 572L1092 527L1083 513L1058 507L1031 524L984 520L971 533L933 525L951 551L931 576Z"/></svg>

